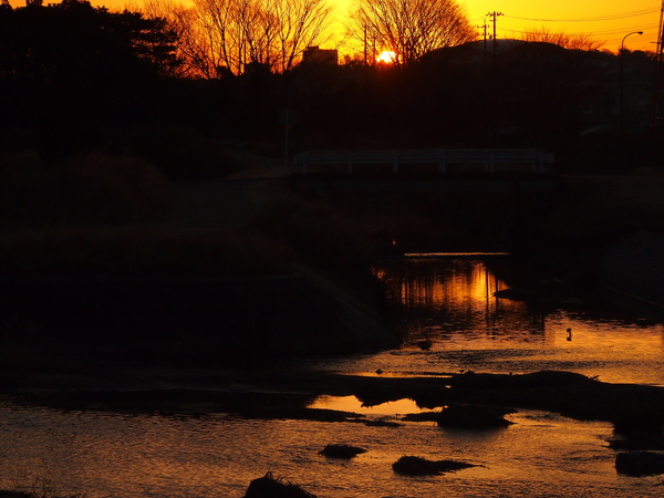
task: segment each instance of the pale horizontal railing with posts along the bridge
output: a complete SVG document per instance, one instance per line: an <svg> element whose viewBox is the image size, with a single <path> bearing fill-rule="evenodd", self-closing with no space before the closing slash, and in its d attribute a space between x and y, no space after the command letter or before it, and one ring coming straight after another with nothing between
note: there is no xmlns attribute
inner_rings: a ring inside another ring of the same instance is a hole
<svg viewBox="0 0 664 498"><path fill-rule="evenodd" d="M543 173L546 164L553 163L553 154L537 149L440 149L440 151L304 151L295 155L295 164L302 173L310 173L315 165L345 166L347 173L364 165L392 165L392 170L408 169L408 165L435 165L439 173L447 173L450 165L480 166L495 173L508 165L528 165L532 172Z"/></svg>

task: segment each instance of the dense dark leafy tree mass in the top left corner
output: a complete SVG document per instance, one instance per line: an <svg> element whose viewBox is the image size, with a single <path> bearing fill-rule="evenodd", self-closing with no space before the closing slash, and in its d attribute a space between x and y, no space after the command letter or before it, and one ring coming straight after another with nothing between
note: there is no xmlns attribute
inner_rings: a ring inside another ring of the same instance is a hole
<svg viewBox="0 0 664 498"><path fill-rule="evenodd" d="M138 12L111 12L64 0L0 6L0 123L33 127L44 154L70 146L61 135L90 135L93 124L149 112L151 87L178 65L175 33ZM76 142L85 142L79 136ZM73 145L73 144L72 144Z"/></svg>

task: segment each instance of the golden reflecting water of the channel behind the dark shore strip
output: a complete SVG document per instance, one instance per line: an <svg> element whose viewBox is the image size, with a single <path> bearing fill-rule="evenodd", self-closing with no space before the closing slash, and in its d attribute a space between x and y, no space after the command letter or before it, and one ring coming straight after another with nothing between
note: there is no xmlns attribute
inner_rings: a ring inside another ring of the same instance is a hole
<svg viewBox="0 0 664 498"><path fill-rule="evenodd" d="M353 372L568 370L664 385L662 324L626 320L615 307L497 298L509 287L499 276L509 273L496 260L422 259L375 272L401 309L404 346L356 363Z"/></svg>

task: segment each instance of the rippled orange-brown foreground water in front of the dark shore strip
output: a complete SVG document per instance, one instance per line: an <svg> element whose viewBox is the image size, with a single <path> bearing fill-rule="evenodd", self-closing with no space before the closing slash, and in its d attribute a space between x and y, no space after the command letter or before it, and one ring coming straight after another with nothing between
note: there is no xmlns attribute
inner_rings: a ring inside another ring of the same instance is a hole
<svg viewBox="0 0 664 498"><path fill-rule="evenodd" d="M267 470L319 497L661 496L655 478L615 473L614 453L605 445L608 424L539 412L515 414L515 425L487 432L442 429L429 423L367 427L46 409L4 408L0 415L2 487L40 488L40 479L48 476L53 491L91 498L239 498ZM370 452L350 461L318 455L330 442ZM403 455L455 458L480 467L403 477L391 468Z"/></svg>

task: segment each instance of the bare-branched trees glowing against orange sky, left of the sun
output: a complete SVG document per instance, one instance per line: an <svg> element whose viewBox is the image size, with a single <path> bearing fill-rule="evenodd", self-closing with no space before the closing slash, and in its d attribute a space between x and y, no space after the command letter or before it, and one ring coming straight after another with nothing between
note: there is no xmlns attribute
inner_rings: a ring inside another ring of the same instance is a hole
<svg viewBox="0 0 664 498"><path fill-rule="evenodd" d="M241 74L252 68L292 69L310 45L326 41L332 9L326 0L148 0L147 11L179 34L189 72L203 77Z"/></svg>

